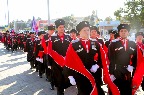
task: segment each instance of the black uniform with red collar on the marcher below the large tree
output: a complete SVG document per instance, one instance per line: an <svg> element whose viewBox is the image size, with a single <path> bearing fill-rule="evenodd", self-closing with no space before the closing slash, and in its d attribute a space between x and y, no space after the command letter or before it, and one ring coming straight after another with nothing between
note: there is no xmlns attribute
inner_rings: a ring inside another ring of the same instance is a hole
<svg viewBox="0 0 144 95"><path fill-rule="evenodd" d="M109 72L115 76L114 84L118 87L120 95L132 95L131 72L128 66L136 68L137 47L135 42L128 39L115 39L109 45Z"/></svg>

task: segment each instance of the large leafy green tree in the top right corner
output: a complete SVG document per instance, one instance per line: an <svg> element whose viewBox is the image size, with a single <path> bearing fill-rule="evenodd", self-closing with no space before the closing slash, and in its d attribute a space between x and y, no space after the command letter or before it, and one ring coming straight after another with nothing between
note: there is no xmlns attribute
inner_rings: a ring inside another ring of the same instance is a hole
<svg viewBox="0 0 144 95"><path fill-rule="evenodd" d="M119 11L120 10L120 11ZM125 7L115 11L115 16L122 16L127 22L131 24L132 29L139 31L144 27L144 1L143 0L129 0L125 2Z"/></svg>

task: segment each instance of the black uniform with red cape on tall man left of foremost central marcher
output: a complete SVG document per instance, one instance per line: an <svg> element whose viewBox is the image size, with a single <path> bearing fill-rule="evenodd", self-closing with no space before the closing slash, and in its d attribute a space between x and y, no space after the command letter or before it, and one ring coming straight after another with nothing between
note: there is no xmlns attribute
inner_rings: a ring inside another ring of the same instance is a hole
<svg viewBox="0 0 144 95"><path fill-rule="evenodd" d="M55 86L57 87L58 95L63 95L64 89L67 88L70 84L68 79L68 83L66 83L66 80L62 72L64 66L64 57L66 56L66 51L71 40L72 39L69 35L64 34L63 36L59 36L58 34L55 34L51 36L50 41L48 43L48 53L52 58L52 61L49 62L49 65L51 66L51 70L54 75L53 79Z"/></svg>

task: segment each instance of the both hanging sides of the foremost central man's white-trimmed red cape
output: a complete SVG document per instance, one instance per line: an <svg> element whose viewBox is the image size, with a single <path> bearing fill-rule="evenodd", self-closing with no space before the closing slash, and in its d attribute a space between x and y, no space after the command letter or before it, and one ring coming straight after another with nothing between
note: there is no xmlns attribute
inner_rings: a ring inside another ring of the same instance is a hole
<svg viewBox="0 0 144 95"><path fill-rule="evenodd" d="M102 47L100 48L100 51L101 51L101 58L102 58L104 74L105 74L105 77L107 78L107 81L108 81L109 87L112 91L112 94L120 95L118 88L115 86L115 84L110 79L108 68L107 68L106 54L105 54L104 50L102 49ZM84 75L85 77L87 77L90 80L91 85L93 87L93 90L91 91L90 95L98 95L94 77L84 67L81 59L79 58L77 53L74 51L72 44L70 44L68 51L66 53L65 66L72 70L75 70L75 71L81 73L82 75Z"/></svg>

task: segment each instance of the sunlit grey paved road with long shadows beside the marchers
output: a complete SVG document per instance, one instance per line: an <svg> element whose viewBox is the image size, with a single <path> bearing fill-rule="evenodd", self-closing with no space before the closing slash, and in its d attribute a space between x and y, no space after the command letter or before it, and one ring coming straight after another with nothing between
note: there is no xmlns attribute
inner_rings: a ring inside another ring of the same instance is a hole
<svg viewBox="0 0 144 95"><path fill-rule="evenodd" d="M26 53L21 50L7 52L0 43L0 95L56 95L56 90L52 91L49 87L45 77L39 78L35 69L30 70ZM106 86L103 88L107 91ZM65 90L65 95L76 93L75 86ZM144 95L142 93L139 89L137 95Z"/></svg>

